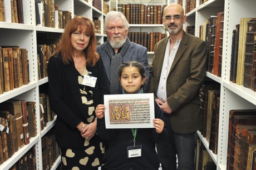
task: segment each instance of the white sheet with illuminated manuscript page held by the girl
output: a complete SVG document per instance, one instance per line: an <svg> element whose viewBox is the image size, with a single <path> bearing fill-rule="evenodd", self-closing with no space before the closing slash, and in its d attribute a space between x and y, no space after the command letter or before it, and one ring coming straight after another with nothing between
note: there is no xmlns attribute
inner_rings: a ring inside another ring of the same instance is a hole
<svg viewBox="0 0 256 170"><path fill-rule="evenodd" d="M106 128L152 127L154 97L149 94L105 95Z"/></svg>

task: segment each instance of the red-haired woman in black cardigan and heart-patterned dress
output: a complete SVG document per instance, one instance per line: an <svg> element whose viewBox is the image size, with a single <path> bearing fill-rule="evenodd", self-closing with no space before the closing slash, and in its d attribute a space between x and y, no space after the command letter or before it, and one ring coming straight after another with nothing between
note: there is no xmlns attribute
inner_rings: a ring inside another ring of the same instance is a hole
<svg viewBox="0 0 256 170"><path fill-rule="evenodd" d="M48 84L62 169L98 169L105 148L96 133L95 108L109 88L89 18L76 16L66 25L48 62Z"/></svg>

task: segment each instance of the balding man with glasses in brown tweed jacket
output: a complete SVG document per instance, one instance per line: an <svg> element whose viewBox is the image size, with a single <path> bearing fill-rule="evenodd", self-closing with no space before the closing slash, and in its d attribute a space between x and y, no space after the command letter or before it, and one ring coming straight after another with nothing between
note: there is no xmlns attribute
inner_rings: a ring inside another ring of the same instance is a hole
<svg viewBox="0 0 256 170"><path fill-rule="evenodd" d="M179 4L169 4L163 16L170 36L155 45L149 93L154 93L164 112L169 138L157 144L157 153L162 169L195 169L195 134L202 127L199 90L206 72L206 43L183 30L186 16Z"/></svg>

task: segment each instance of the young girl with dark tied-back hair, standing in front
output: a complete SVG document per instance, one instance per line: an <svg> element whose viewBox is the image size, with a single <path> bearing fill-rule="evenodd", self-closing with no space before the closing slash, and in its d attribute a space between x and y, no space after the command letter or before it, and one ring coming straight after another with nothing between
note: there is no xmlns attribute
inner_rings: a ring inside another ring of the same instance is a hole
<svg viewBox="0 0 256 170"><path fill-rule="evenodd" d="M122 63L118 71L119 81L122 89L120 94L143 93L143 84L146 80L144 66L140 62ZM140 129L106 129L105 106L99 104L95 113L97 116L97 132L99 136L108 141L104 155L105 168L114 169L159 169L155 143L163 142L167 137L164 128L163 113L155 102L155 128ZM140 157L131 157L127 153L130 146L140 146Z"/></svg>

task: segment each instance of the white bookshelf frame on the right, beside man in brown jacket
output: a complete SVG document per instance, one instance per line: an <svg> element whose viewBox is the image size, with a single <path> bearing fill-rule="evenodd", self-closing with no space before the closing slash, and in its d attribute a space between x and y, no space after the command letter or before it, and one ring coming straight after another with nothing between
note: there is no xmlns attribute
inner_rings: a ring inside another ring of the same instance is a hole
<svg viewBox="0 0 256 170"><path fill-rule="evenodd" d="M185 9L185 0L183 7ZM223 58L221 67L221 77L217 77L209 72L206 76L215 82L220 83L220 116L218 132L218 154L208 152L213 158L217 169L227 167L227 147L228 147L228 121L229 110L231 109L255 109L256 93L243 85L238 85L229 81L230 58L232 47L232 31L235 25L240 23L240 18L255 17L256 1L249 0L242 2L239 0L208 0L199 5L196 1L196 8L186 14L186 26L195 26L195 36L199 37L199 26L208 20L210 16L216 16L218 12L224 11L224 33L223 33ZM239 9L239 12L238 12ZM198 133L206 148L209 143Z"/></svg>

